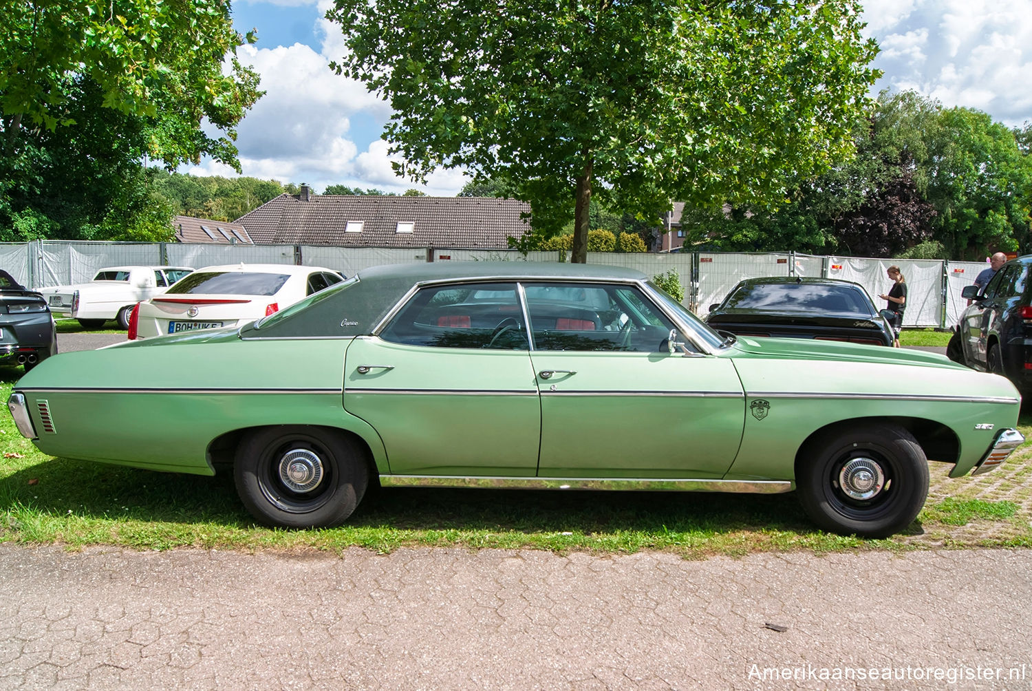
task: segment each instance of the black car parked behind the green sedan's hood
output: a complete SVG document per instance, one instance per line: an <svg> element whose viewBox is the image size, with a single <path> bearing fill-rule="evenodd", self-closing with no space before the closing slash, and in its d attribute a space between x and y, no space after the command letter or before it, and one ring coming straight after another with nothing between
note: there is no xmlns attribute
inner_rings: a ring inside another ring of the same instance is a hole
<svg viewBox="0 0 1032 691"><path fill-rule="evenodd" d="M738 336L893 345L892 325L859 283L831 278L750 278L706 322Z"/></svg>

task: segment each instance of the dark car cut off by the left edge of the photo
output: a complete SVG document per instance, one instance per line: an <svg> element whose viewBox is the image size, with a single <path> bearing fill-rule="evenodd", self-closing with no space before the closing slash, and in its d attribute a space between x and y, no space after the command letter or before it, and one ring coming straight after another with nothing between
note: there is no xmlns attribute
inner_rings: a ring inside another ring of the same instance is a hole
<svg viewBox="0 0 1032 691"><path fill-rule="evenodd" d="M46 301L0 271L0 365L24 365L28 372L57 351L57 331Z"/></svg>

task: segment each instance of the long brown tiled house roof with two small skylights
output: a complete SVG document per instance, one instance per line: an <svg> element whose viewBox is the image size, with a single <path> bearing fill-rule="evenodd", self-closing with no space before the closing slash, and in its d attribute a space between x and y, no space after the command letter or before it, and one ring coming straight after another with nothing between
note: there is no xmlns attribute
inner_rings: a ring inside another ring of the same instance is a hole
<svg viewBox="0 0 1032 691"><path fill-rule="evenodd" d="M530 208L490 197L281 194L236 219L255 243L334 247L506 249Z"/></svg>

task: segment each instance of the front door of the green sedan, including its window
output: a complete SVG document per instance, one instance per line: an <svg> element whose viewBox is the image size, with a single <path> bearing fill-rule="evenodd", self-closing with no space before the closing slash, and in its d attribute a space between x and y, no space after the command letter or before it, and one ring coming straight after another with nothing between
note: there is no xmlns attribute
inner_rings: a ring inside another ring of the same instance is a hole
<svg viewBox="0 0 1032 691"><path fill-rule="evenodd" d="M672 355L633 284L526 284L542 477L718 478L745 416L731 360Z"/></svg>

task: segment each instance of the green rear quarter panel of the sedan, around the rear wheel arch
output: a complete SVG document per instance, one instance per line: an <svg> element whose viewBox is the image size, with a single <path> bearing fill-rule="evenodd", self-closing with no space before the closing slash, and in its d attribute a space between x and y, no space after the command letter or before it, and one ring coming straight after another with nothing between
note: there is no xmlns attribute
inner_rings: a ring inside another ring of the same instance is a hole
<svg viewBox="0 0 1032 691"><path fill-rule="evenodd" d="M180 342L57 355L23 377L37 433L51 456L154 470L213 474L208 444L268 425L354 432L386 468L383 445L343 408L347 340ZM55 434L42 432L47 402Z"/></svg>

